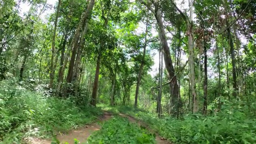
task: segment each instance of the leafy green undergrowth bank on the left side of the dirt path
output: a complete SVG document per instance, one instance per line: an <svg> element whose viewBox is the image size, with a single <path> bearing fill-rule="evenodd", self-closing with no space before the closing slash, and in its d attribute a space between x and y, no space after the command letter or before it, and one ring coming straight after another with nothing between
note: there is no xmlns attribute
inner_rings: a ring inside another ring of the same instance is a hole
<svg viewBox="0 0 256 144"><path fill-rule="evenodd" d="M28 136L45 138L95 120L99 108L75 106L74 100L46 98L10 81L0 86L0 143Z"/></svg>

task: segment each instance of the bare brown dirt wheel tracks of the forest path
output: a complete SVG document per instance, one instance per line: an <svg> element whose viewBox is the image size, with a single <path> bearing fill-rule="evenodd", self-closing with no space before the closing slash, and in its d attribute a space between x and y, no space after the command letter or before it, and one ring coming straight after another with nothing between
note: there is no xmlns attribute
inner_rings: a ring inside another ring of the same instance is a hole
<svg viewBox="0 0 256 144"><path fill-rule="evenodd" d="M130 122L137 123L138 126L140 125L144 126L144 124L142 124L141 122L138 122L138 120L136 120L135 118L132 118L131 116L127 116L124 114L119 114L119 115L122 117L128 117ZM112 114L108 112L104 112L104 115L102 118L100 118L99 122L104 122L106 120L109 120L111 116ZM90 136L90 134L92 134L92 132L96 130L100 130L100 126L98 125L98 123L93 123L93 124L78 128L77 130L71 130L70 132L68 132L68 134L62 134L62 135L59 134L56 137L58 140L60 140L62 144L65 144L65 142L68 142L69 144L74 144L74 140L73 140L74 138L79 140L80 143L82 144L82 143L86 143L87 138ZM30 139L29 141L30 142L28 142L28 144L51 144L51 139L39 140L39 139L33 138L33 139ZM156 136L156 142L157 144L171 144L170 142L167 142L166 140L163 140L162 138L160 138L160 136L158 135Z"/></svg>

